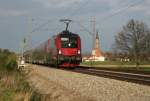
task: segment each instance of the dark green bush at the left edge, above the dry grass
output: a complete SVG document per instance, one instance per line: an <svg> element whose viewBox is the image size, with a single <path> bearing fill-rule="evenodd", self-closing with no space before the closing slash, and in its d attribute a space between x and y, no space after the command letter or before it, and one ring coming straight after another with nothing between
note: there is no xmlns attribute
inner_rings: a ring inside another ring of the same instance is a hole
<svg viewBox="0 0 150 101"><path fill-rule="evenodd" d="M0 70L14 71L17 68L16 54L0 48Z"/></svg>

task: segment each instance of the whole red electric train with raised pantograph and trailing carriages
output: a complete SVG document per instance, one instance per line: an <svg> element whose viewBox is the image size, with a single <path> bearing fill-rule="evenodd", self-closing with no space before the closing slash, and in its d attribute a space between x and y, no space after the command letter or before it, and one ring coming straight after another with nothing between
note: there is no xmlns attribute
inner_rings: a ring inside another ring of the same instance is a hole
<svg viewBox="0 0 150 101"><path fill-rule="evenodd" d="M80 36L68 31L68 20L65 20L65 23L66 30L30 51L32 63L58 67L75 67L80 64L82 61ZM26 56L29 60L29 55Z"/></svg>

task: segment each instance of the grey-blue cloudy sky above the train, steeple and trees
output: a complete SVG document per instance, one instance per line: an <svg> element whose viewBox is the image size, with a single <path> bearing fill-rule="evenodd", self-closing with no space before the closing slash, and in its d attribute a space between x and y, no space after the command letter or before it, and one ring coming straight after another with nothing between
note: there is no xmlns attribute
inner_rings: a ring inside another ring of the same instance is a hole
<svg viewBox="0 0 150 101"><path fill-rule="evenodd" d="M111 51L114 36L130 19L150 27L149 9L150 0L0 0L0 48L19 52L25 37L34 48L64 30L59 20L69 18L69 30L80 35L83 52L89 52L95 17L100 47Z"/></svg>

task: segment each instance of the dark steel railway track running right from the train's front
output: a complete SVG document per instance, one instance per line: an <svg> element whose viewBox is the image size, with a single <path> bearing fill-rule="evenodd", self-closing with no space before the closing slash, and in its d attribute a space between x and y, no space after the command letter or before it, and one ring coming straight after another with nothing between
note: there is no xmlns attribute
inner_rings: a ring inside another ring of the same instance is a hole
<svg viewBox="0 0 150 101"><path fill-rule="evenodd" d="M100 77L106 77L106 78L112 78L112 79L150 86L150 74L143 74L143 73L138 73L138 72L113 71L113 70L104 70L104 69L101 70L101 69L96 69L92 67L91 68L77 67L69 71L84 73L88 75L95 75L95 76L100 76Z"/></svg>

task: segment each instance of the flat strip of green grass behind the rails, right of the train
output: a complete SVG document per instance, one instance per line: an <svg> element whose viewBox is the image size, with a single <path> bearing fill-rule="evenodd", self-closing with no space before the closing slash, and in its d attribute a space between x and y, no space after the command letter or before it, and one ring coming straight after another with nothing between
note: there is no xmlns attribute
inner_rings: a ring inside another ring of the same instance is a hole
<svg viewBox="0 0 150 101"><path fill-rule="evenodd" d="M110 68L119 70L139 70L150 72L150 62L140 62L137 66L135 62L121 62L121 61L104 61L104 62L82 62L81 65L98 68Z"/></svg>

